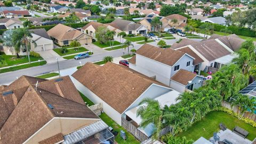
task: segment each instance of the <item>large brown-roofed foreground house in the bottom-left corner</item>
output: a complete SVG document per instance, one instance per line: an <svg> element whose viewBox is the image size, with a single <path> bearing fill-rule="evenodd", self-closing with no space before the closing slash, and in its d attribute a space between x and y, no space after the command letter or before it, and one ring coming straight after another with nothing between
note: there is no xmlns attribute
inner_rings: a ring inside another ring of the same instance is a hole
<svg viewBox="0 0 256 144"><path fill-rule="evenodd" d="M69 76L21 76L0 87L0 143L114 143L108 125L85 105Z"/></svg>

